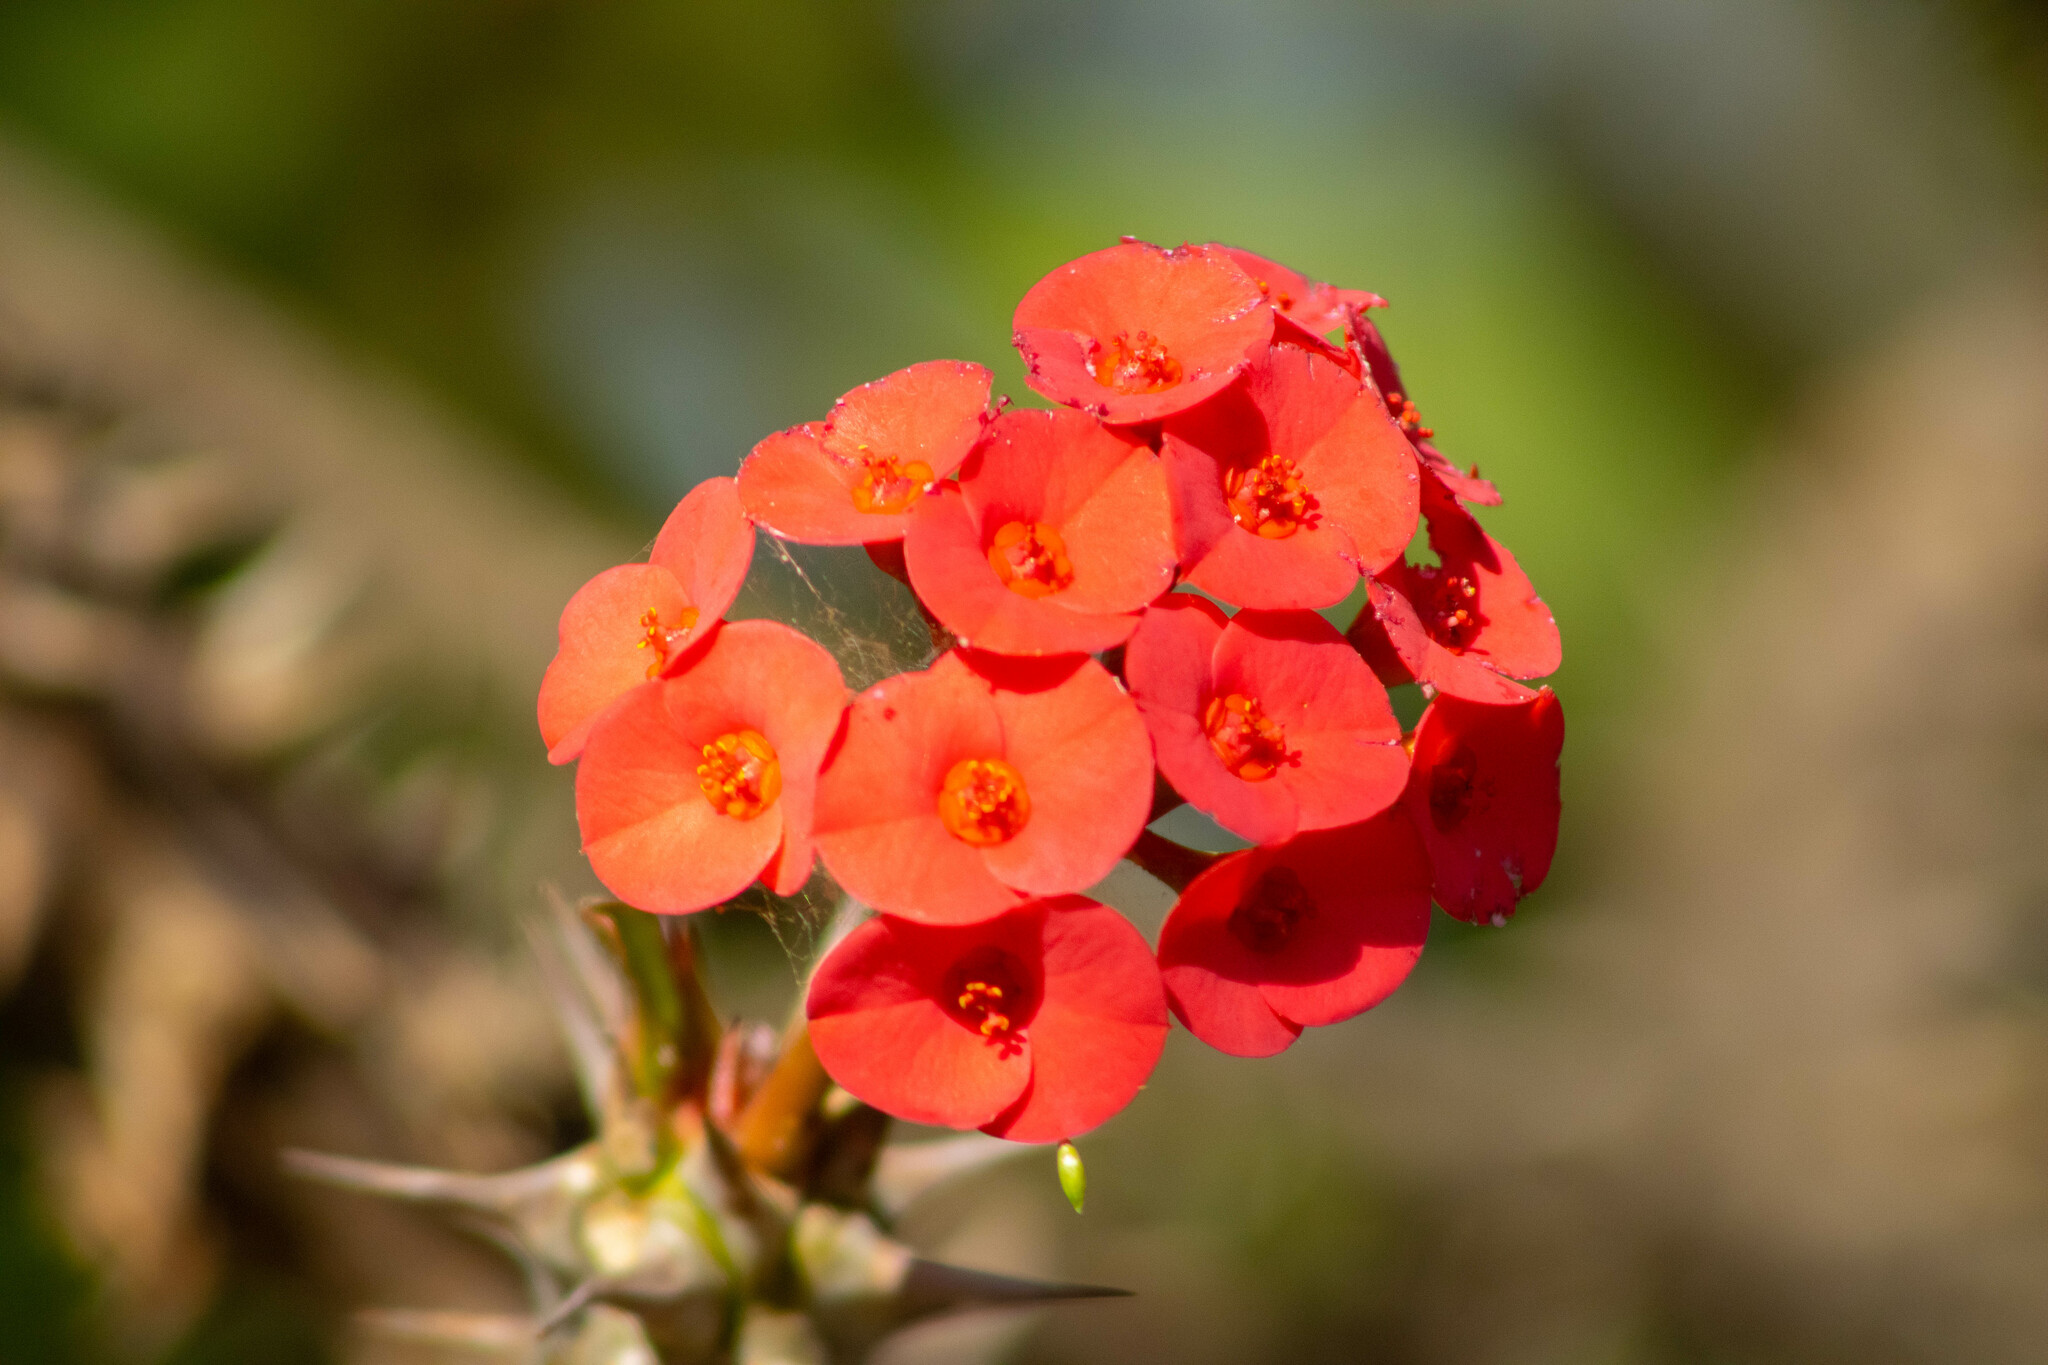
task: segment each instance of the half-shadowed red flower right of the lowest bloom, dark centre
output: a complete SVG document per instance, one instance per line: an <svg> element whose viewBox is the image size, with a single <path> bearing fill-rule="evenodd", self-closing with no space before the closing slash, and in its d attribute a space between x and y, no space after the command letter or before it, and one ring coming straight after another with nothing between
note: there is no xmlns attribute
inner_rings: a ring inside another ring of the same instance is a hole
<svg viewBox="0 0 2048 1365"><path fill-rule="evenodd" d="M1427 933L1430 862L1391 810L1217 860L1159 929L1159 972L1196 1038L1272 1056L1393 995Z"/></svg>

